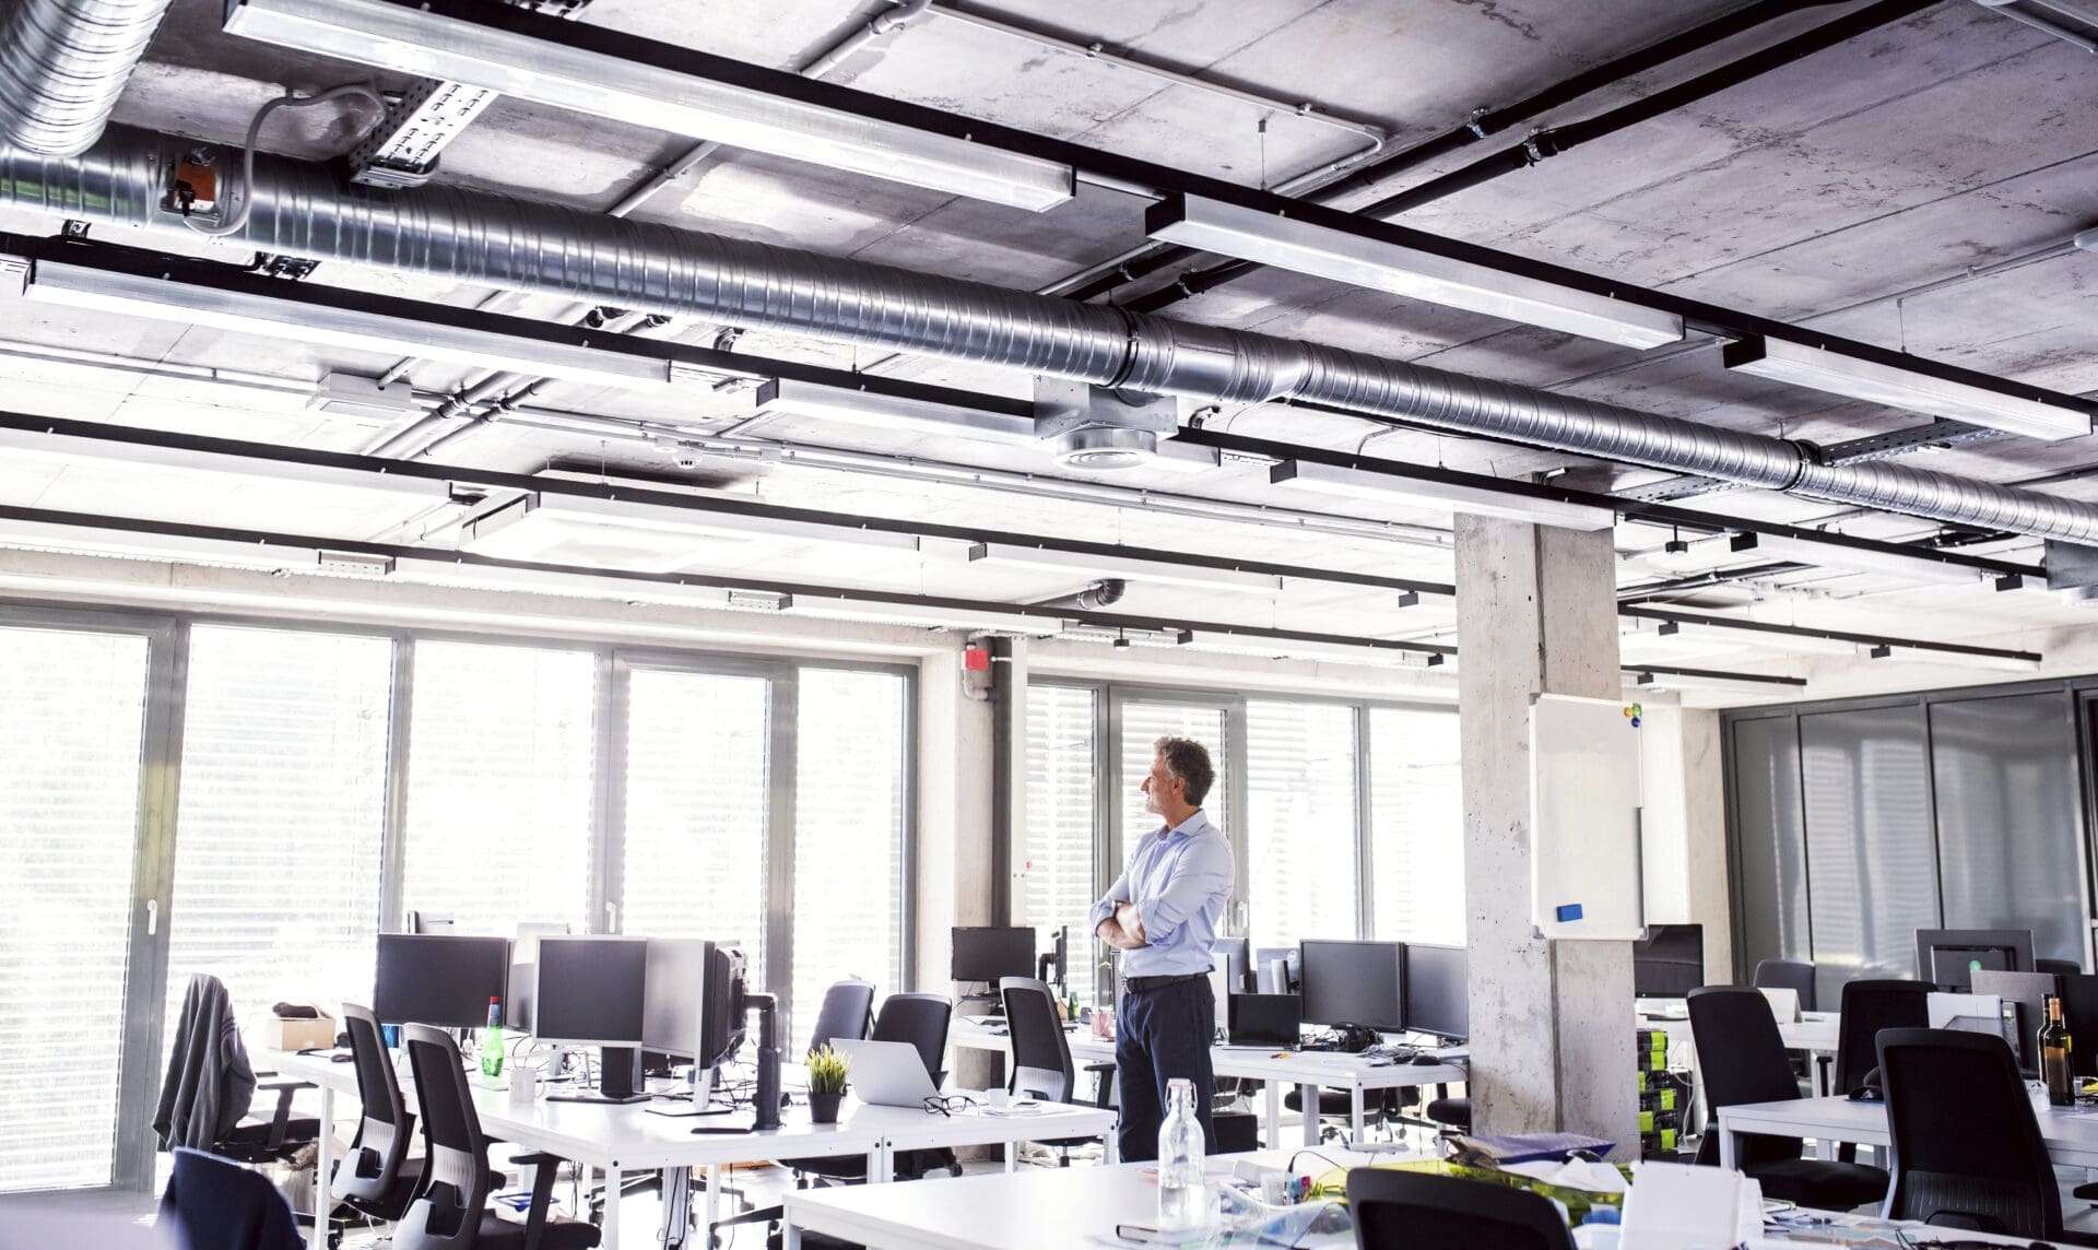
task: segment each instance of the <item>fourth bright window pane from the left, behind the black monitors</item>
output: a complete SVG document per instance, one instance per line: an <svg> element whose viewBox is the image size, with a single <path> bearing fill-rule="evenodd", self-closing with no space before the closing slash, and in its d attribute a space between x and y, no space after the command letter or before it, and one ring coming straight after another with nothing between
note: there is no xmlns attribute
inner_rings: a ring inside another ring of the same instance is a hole
<svg viewBox="0 0 2098 1250"><path fill-rule="evenodd" d="M734 942L764 986L772 682L627 675L625 906L644 938Z"/></svg>

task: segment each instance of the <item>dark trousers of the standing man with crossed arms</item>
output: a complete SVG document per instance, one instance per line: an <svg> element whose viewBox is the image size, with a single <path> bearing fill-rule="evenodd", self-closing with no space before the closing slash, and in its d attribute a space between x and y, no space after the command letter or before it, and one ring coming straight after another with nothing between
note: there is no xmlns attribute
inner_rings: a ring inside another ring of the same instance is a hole
<svg viewBox="0 0 2098 1250"><path fill-rule="evenodd" d="M1158 1158L1169 1080L1194 1082L1204 1151L1217 1154L1217 1126L1208 1109L1217 1097L1217 1074L1208 1061L1215 1036L1217 996L1208 990L1208 977L1122 992L1122 1011L1114 1021L1114 1070L1122 1084L1125 1162Z"/></svg>

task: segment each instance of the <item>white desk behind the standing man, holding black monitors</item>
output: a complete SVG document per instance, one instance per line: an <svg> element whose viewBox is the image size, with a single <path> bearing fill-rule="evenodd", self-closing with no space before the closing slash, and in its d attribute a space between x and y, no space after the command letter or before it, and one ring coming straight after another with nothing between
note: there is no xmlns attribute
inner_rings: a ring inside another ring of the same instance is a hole
<svg viewBox="0 0 2098 1250"><path fill-rule="evenodd" d="M1066 1032L1074 1063L1114 1063L1114 1042L1095 1038L1087 1030ZM1013 1040L1003 1032L986 1030L978 1019L957 1017L948 1028L955 1047L997 1051L1011 1055ZM1404 1089L1414 1084L1460 1084L1471 1080L1462 1068L1464 1049L1437 1051L1443 1063L1374 1063L1362 1055L1336 1051L1286 1051L1267 1047L1213 1047L1211 1068L1217 1076L1234 1080L1259 1080L1267 1086L1265 1141L1269 1147L1282 1145L1282 1086L1294 1084L1303 1097L1303 1141L1318 1145L1318 1091L1345 1089L1349 1093L1349 1126L1353 1137L1364 1128L1364 1095L1368 1091Z"/></svg>

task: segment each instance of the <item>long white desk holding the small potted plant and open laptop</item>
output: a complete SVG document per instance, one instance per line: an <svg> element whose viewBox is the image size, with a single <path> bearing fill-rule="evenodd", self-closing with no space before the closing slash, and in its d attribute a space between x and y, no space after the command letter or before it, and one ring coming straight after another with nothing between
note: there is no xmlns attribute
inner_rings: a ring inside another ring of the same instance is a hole
<svg viewBox="0 0 2098 1250"><path fill-rule="evenodd" d="M357 1097L357 1065L331 1063L325 1057L269 1053L266 1065L321 1086L321 1145L317 1162L317 1193L325 1200L329 1183L336 1095ZM409 1093L413 1097L413 1093ZM722 1166L780 1160L866 1156L869 1183L896 1177L896 1151L917 1147L1005 1145L1005 1166L1013 1168L1018 1143L1057 1141L1066 1137L1104 1137L1108 1158L1114 1158L1114 1112L1095 1107L1045 1105L1032 1116L986 1116L961 1112L927 1114L919 1107L871 1107L848 1097L837 1124L812 1124L808 1107L795 1105L783 1114L783 1124L768 1133L707 1133L692 1128L713 1124L713 1118L657 1116L646 1103L556 1103L535 1099L512 1103L508 1091L474 1089L474 1114L489 1137L524 1149L560 1156L577 1166L604 1172L604 1246L619 1246L619 1185L627 1172L707 1172L707 1227L720 1216ZM671 1189L665 1185L665 1189ZM682 1233L682 1216L665 1231ZM313 1250L325 1250L325 1223L315 1221Z"/></svg>

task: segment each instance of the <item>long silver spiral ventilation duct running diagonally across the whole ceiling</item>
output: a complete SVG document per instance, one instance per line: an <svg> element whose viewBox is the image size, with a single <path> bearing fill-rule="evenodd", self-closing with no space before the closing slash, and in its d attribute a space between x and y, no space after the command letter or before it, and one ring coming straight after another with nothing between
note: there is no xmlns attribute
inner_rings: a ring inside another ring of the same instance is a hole
<svg viewBox="0 0 2098 1250"><path fill-rule="evenodd" d="M176 153L111 128L78 159L0 149L0 203L172 224ZM220 157L222 161L227 157ZM1718 430L1322 344L1146 317L508 195L342 189L323 166L262 161L239 239L262 252L426 273L764 325L1135 392L1309 401L1620 464L2052 539L2098 543L2098 508L1892 464L1815 464L1783 438Z"/></svg>

